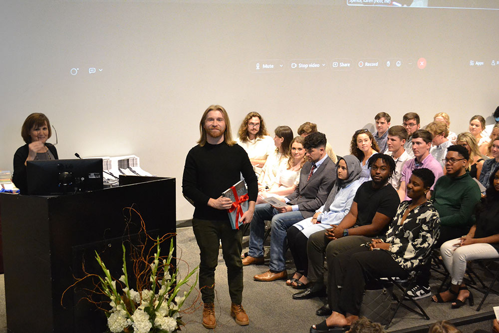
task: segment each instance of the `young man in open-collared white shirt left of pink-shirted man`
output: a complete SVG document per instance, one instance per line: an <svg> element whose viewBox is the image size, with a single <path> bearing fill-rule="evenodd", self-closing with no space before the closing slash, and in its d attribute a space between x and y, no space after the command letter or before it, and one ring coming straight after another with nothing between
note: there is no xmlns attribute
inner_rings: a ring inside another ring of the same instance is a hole
<svg viewBox="0 0 499 333"><path fill-rule="evenodd" d="M404 144L407 140L408 134L403 126L396 125L390 127L388 130L388 152L387 155L391 156L395 161L395 172L390 177L390 184L395 190L400 188L400 180L402 178L402 168L404 163L411 158L404 149Z"/></svg>

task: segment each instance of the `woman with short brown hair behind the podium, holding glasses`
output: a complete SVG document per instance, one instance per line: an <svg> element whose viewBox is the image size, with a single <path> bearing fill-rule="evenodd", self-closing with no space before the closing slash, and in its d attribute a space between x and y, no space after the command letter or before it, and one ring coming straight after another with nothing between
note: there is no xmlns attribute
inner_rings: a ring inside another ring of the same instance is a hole
<svg viewBox="0 0 499 333"><path fill-rule="evenodd" d="M27 194L26 161L57 160L57 150L46 142L52 135L50 121L43 113L31 113L22 124L21 136L25 145L14 154L14 172L12 182L19 189L19 194Z"/></svg>

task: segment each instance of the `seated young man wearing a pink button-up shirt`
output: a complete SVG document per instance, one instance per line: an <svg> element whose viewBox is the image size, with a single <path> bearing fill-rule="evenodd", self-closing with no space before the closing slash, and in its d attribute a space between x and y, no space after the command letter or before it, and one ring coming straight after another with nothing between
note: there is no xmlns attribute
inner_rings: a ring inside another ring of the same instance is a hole
<svg viewBox="0 0 499 333"><path fill-rule="evenodd" d="M414 132L412 135L412 150L413 156L415 157L405 162L404 167L402 168L400 187L397 191L401 201L409 200L406 193L406 184L409 182L409 178L411 178L414 169L427 168L432 170L435 175L435 180L439 179L444 174L444 170L442 170L440 163L430 154L431 146L432 135L430 132L424 129ZM433 190L433 186L431 190Z"/></svg>

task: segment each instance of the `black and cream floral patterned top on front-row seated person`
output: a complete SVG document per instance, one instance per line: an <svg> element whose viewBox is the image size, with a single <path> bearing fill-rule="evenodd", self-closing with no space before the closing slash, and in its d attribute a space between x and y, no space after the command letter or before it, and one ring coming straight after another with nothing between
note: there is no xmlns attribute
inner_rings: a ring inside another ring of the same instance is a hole
<svg viewBox="0 0 499 333"><path fill-rule="evenodd" d="M402 216L411 201L402 201L390 228L383 237L391 244L392 258L403 269L413 270L422 264L440 235L440 218L430 201L414 208L400 225Z"/></svg>

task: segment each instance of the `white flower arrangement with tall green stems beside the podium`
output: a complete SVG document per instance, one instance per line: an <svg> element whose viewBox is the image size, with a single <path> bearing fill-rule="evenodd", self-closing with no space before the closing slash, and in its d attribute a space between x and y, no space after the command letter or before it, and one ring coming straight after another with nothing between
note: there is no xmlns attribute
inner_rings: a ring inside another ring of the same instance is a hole
<svg viewBox="0 0 499 333"><path fill-rule="evenodd" d="M98 277L103 293L109 298L111 310L106 313L107 326L113 333L171 333L176 332L183 325L180 309L184 301L191 294L197 284L192 284L183 296L179 296L180 288L189 282L198 267L189 272L187 276L178 280L178 269L170 276L169 268L173 257L173 240L170 243L170 253L167 259L160 257L160 240L157 239L156 253L147 266L150 271L147 287L135 291L130 289L125 260L125 246L123 248L123 275L113 280L109 270L102 262L99 254L95 252L97 262L102 268L105 277ZM148 262L146 258L146 262ZM139 285L139 284L138 284ZM159 287L159 288L158 288ZM121 289L121 292L118 290ZM139 287L138 287L139 289Z"/></svg>

